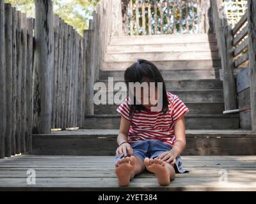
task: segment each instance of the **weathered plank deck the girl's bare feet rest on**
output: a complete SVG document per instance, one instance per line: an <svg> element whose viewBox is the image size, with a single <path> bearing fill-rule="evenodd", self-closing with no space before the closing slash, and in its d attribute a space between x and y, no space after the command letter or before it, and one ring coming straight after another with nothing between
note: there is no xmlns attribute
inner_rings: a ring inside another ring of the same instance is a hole
<svg viewBox="0 0 256 204"><path fill-rule="evenodd" d="M0 191L256 191L256 156L184 156L186 174L161 187L152 173L118 187L113 156L17 156L0 159ZM27 184L27 170L36 184ZM221 170L221 171L220 171ZM227 183L219 182L227 170Z"/></svg>

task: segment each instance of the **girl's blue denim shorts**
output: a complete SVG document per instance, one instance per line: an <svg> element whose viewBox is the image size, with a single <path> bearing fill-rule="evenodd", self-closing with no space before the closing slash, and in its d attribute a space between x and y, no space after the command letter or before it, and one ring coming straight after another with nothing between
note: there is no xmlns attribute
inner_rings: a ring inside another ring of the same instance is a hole
<svg viewBox="0 0 256 204"><path fill-rule="evenodd" d="M133 149L133 156L138 156L144 161L146 157L148 158L155 158L158 157L160 154L163 154L166 151L172 149L172 146L168 143L161 142L159 140L142 140L140 142L131 143L131 147ZM129 153L127 152L127 156ZM115 163L122 159L124 156L116 156ZM182 167L182 159L180 156L176 157L176 163L174 164L175 172L176 173L188 173L188 170L185 170Z"/></svg>

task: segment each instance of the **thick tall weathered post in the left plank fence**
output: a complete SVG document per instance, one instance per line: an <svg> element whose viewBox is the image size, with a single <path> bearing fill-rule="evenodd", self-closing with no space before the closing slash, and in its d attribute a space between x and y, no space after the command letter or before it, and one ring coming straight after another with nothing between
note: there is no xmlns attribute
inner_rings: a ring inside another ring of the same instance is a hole
<svg viewBox="0 0 256 204"><path fill-rule="evenodd" d="M33 112L36 122L34 133L51 133L52 114L52 74L53 74L53 11L51 0L36 0L35 40L36 75L34 83Z"/></svg>

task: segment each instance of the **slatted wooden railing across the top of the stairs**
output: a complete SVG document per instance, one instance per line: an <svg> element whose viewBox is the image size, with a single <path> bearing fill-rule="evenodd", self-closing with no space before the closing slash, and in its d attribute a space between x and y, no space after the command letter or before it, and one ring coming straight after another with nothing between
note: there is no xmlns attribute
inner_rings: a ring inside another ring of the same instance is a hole
<svg viewBox="0 0 256 204"><path fill-rule="evenodd" d="M124 33L131 36L208 33L209 5L209 1L200 0L130 0L123 10Z"/></svg>

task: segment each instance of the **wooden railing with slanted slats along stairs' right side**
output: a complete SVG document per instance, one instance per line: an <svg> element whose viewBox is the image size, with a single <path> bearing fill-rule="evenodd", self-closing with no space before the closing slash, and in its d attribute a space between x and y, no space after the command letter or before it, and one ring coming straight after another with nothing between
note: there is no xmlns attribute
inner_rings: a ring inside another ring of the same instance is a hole
<svg viewBox="0 0 256 204"><path fill-rule="evenodd" d="M250 128L256 133L256 4L248 0L248 10L232 28L227 17L220 18L221 3L220 0L212 0L221 55L225 110L239 112L241 128Z"/></svg>

